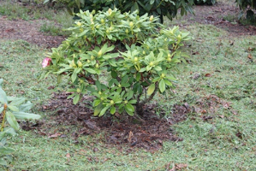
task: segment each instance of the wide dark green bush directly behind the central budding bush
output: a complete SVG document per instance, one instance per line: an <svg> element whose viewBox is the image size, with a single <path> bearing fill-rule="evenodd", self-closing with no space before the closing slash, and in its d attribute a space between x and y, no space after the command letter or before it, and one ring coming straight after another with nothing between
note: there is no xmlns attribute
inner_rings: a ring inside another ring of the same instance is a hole
<svg viewBox="0 0 256 171"><path fill-rule="evenodd" d="M45 3L50 3L52 0L45 0ZM181 15L187 14L187 12L193 13L192 5L193 0L137 0L137 1L126 1L126 0L54 0L57 3L63 3L67 7L69 13L73 15L79 12L80 9L83 11L107 11L108 9L117 8L124 12L134 12L138 10L139 15L160 16L160 21L164 21L163 17L167 16L170 20L176 17L178 9L181 9Z"/></svg>

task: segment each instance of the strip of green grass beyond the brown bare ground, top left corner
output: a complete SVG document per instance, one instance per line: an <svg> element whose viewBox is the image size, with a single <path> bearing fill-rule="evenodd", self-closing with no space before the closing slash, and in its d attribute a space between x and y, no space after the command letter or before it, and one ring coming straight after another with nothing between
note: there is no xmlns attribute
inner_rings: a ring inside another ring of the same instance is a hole
<svg viewBox="0 0 256 171"><path fill-rule="evenodd" d="M63 29L71 27L74 23L73 16L69 15L66 9L47 9L46 6L35 4L22 6L11 0L0 2L1 15L6 15L9 20L37 20L41 23L39 30L53 36L68 36L69 32Z"/></svg>

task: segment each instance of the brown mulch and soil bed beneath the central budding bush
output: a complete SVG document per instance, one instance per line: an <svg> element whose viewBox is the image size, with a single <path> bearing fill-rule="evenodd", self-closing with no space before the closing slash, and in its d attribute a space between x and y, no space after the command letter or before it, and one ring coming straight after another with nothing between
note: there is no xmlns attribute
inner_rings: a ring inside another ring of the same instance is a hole
<svg viewBox="0 0 256 171"><path fill-rule="evenodd" d="M52 100L42 106L44 111L55 111L48 121L40 122L36 129L49 138L62 137L60 130L56 133L47 133L52 125L78 127L78 132L72 133L74 139L80 136L104 133L105 144L126 145L146 150L159 150L163 141L182 141L171 129L171 125L187 119L190 111L188 104L175 105L173 115L169 119L158 117L152 112L154 106L145 106L146 115L142 118L121 116L119 114L103 117L93 117L91 109L92 97L83 97L81 103L74 105L72 99L67 99L69 93L55 93ZM51 121L51 122L49 122ZM23 128L27 128L24 126ZM62 128L63 129L63 128Z"/></svg>

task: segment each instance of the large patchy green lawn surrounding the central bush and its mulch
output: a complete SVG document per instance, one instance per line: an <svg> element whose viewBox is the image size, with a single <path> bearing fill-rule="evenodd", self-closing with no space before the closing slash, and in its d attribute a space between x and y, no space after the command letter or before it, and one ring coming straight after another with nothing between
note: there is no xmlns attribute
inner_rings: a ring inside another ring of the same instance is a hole
<svg viewBox="0 0 256 171"><path fill-rule="evenodd" d="M229 104L213 106L213 114L193 112L188 119L172 128L182 137L182 142L164 142L164 148L154 153L146 150L128 151L126 146L118 150L104 144L103 134L81 136L74 143L71 133L75 126L51 124L49 131L57 127L69 130L67 138L48 139L36 131L21 131L9 140L15 148L12 170L168 170L175 164L187 164L187 170L255 170L256 169L256 46L255 36L235 37L229 32L211 25L194 24L184 28L192 33L193 40L184 46L191 55L188 64L180 64L176 77L176 92L165 99L156 99L159 106L170 109L175 103L188 103L201 107L198 101L211 103L216 95ZM232 44L233 43L233 44ZM0 42L0 68L9 96L27 97L37 104L33 113L46 121L51 113L42 112L40 105L47 103L53 91L65 90L66 83L56 85L49 77L38 80L41 62L46 50L25 41ZM198 53L195 53L198 52ZM196 55L192 55L196 54ZM251 54L253 59L249 59ZM193 80L194 74L200 74ZM210 77L205 75L211 74ZM213 119L203 121L204 115ZM165 115L166 119L170 113ZM51 121L49 121L51 122ZM237 133L241 134L236 136ZM240 137L240 138L239 138ZM98 150L93 150L97 148ZM67 156L70 155L70 157Z"/></svg>

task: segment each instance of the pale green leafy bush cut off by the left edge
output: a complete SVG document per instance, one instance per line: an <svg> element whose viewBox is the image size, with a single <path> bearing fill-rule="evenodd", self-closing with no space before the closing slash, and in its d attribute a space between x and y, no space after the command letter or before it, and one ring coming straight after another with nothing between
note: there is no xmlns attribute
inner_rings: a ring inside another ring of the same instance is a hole
<svg viewBox="0 0 256 171"><path fill-rule="evenodd" d="M40 115L27 113L33 107L33 103L27 102L23 97L7 97L2 89L3 79L0 79L0 114L2 123L0 127L0 165L6 168L8 162L12 162L11 153L15 150L7 146L7 137L14 136L20 129L17 120L37 120Z"/></svg>

